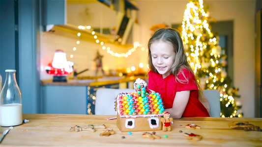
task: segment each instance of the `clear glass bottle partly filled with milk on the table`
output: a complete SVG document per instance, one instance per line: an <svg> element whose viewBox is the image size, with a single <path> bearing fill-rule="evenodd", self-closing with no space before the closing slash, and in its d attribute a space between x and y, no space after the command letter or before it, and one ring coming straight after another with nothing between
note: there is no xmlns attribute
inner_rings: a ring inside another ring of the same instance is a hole
<svg viewBox="0 0 262 147"><path fill-rule="evenodd" d="M22 96L16 82L16 70L5 70L5 72L5 82L0 94L0 125L19 125L23 123Z"/></svg>

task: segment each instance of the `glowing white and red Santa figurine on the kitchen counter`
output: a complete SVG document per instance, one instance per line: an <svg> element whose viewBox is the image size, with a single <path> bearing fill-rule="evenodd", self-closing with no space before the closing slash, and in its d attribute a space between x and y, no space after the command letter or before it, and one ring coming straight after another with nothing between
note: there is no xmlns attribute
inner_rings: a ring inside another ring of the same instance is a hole
<svg viewBox="0 0 262 147"><path fill-rule="evenodd" d="M54 82L66 82L65 76L73 72L73 62L67 61L66 54L63 50L55 51L53 60L45 68L48 74L53 74Z"/></svg>

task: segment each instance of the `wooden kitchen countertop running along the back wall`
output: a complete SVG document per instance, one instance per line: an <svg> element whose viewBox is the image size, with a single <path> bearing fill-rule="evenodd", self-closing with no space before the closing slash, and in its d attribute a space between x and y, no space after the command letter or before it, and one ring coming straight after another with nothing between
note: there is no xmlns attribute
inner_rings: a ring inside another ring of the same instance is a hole
<svg viewBox="0 0 262 147"><path fill-rule="evenodd" d="M53 85L53 86L102 86L102 85L109 85L109 84L116 84L116 83L124 83L134 81L137 78L145 79L146 76L128 76L128 77L103 77L98 79L69 79L67 82L53 82L52 79L50 80L42 80L41 85Z"/></svg>

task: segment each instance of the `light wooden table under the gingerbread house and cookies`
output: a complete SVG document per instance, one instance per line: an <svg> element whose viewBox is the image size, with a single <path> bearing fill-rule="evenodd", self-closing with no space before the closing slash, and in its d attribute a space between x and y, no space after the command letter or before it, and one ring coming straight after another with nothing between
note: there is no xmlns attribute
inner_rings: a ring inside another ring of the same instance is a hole
<svg viewBox="0 0 262 147"><path fill-rule="evenodd" d="M120 132L116 120L103 115L63 115L63 114L23 114L30 122L14 126L4 137L1 147L14 146L262 146L262 132L231 129L228 123L249 122L262 127L262 118L182 118L175 119L172 131L156 131L161 139L142 138L144 132ZM185 128L188 123L201 126L201 129ZM95 132L70 132L72 126L87 124L105 124L116 134L99 136L102 130ZM0 127L0 132L8 127ZM182 132L179 132L181 130ZM150 132L152 133L152 132ZM184 133L203 136L201 141L188 140ZM168 137L165 138L164 135ZM122 137L125 137L124 139Z"/></svg>

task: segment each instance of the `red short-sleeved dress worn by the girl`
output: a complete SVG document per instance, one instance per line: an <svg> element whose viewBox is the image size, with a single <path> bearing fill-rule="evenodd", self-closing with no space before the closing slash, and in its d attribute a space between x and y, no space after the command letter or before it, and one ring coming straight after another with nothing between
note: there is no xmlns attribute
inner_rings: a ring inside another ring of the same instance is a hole
<svg viewBox="0 0 262 147"><path fill-rule="evenodd" d="M183 72L189 80L188 83L176 82L173 74L163 79L162 74L149 71L148 89L161 94L165 109L173 107L176 92L190 90L189 100L182 117L210 117L204 105L199 101L194 74L186 69ZM185 80L182 73L179 73L178 78Z"/></svg>

